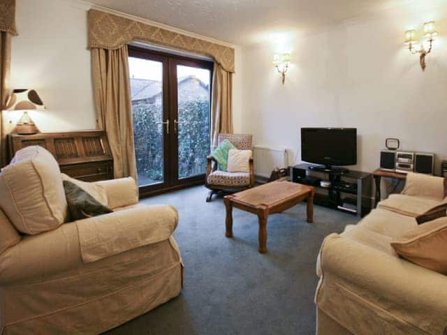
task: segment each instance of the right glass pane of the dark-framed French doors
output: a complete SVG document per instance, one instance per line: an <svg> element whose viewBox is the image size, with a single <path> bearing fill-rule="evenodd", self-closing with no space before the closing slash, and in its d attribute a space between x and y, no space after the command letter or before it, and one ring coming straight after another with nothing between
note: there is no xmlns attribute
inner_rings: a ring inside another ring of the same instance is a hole
<svg viewBox="0 0 447 335"><path fill-rule="evenodd" d="M210 154L211 70L177 65L178 178L205 174Z"/></svg>

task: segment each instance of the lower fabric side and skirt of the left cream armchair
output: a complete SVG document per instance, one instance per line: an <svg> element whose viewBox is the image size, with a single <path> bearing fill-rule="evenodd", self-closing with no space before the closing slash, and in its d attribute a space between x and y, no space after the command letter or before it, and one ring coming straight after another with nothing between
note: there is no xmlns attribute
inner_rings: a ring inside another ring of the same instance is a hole
<svg viewBox="0 0 447 335"><path fill-rule="evenodd" d="M0 334L105 332L177 297L182 267L171 237L49 278L1 285Z"/></svg>

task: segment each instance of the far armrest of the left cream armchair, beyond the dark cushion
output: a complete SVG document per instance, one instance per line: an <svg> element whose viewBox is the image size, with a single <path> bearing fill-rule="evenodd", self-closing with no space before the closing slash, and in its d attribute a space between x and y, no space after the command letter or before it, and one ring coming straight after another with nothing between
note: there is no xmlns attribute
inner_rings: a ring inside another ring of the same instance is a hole
<svg viewBox="0 0 447 335"><path fill-rule="evenodd" d="M138 186L131 177L96 181L94 184L105 188L111 209L138 204Z"/></svg>

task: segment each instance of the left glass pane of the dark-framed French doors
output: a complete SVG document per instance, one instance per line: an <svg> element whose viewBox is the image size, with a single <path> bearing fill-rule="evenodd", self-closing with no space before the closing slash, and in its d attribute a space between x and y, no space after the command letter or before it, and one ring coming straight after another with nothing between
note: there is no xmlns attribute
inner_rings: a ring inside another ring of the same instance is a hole
<svg viewBox="0 0 447 335"><path fill-rule="evenodd" d="M133 137L139 186L165 181L163 62L129 57Z"/></svg>

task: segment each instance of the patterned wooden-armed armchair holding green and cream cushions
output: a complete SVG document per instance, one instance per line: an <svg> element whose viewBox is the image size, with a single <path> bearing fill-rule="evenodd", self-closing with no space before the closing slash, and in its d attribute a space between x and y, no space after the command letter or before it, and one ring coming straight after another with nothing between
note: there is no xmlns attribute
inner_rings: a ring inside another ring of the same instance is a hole
<svg viewBox="0 0 447 335"><path fill-rule="evenodd" d="M251 150L252 135L249 134L224 134L218 136L217 144L228 140L238 150ZM222 191L242 191L254 187L253 157L249 159L247 172L228 172L218 168L217 160L213 156L207 157L207 172L205 186L210 189L207 202L212 200L212 195Z"/></svg>

